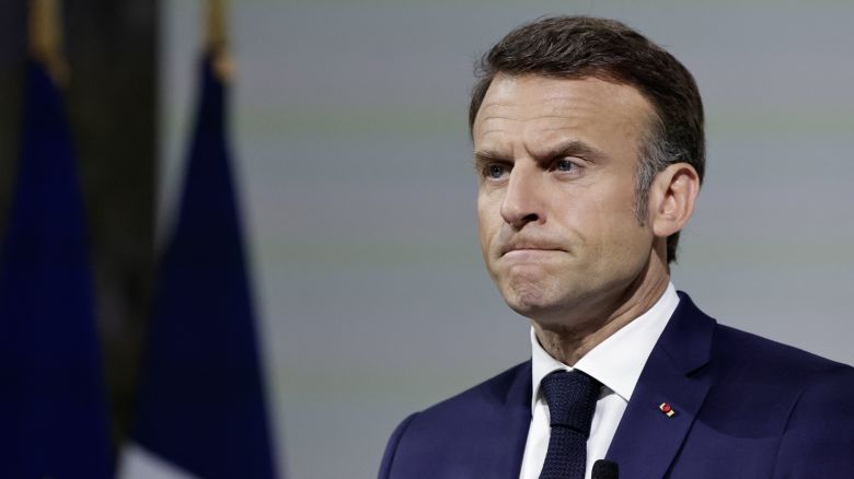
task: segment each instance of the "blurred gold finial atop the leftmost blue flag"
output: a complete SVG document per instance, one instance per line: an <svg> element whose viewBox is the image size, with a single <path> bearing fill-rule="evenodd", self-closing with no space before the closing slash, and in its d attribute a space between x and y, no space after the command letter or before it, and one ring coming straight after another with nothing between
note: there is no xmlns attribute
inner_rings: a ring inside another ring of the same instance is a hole
<svg viewBox="0 0 854 479"><path fill-rule="evenodd" d="M68 63L62 55L62 21L59 0L30 0L30 56L42 62L54 82L68 81Z"/></svg>

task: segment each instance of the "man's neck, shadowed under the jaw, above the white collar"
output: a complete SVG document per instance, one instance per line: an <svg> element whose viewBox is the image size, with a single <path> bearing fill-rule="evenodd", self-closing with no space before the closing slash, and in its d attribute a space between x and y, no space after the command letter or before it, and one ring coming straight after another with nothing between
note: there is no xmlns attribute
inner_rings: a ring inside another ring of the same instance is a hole
<svg viewBox="0 0 854 479"><path fill-rule="evenodd" d="M552 320L532 319L536 339L552 358L574 366L591 349L653 307L669 283L667 271L662 274L646 271L621 294L614 306L593 317L575 318L558 326Z"/></svg>

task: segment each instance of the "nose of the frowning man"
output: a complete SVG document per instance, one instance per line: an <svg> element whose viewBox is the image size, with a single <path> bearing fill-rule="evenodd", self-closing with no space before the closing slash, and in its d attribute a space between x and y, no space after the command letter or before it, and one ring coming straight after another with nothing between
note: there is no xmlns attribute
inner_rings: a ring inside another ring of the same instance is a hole
<svg viewBox="0 0 854 479"><path fill-rule="evenodd" d="M501 218L515 230L521 230L528 223L545 221L542 179L540 170L524 162L517 161L510 171L501 201Z"/></svg>

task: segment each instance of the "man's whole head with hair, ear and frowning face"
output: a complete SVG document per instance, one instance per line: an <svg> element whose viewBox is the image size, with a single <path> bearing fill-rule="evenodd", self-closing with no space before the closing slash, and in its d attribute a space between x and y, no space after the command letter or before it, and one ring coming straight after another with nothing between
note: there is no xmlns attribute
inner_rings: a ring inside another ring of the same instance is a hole
<svg viewBox="0 0 854 479"><path fill-rule="evenodd" d="M688 70L619 22L555 17L508 34L480 72L481 244L508 304L601 314L666 280L704 165Z"/></svg>

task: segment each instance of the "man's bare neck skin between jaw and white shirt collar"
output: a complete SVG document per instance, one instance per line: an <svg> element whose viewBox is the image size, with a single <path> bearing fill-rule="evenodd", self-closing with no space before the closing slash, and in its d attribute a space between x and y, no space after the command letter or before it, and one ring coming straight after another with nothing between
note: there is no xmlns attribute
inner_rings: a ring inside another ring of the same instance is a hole
<svg viewBox="0 0 854 479"><path fill-rule="evenodd" d="M661 259L654 252L627 288L600 300L600 304L587 305L580 315L530 318L540 344L552 358L574 366L591 349L646 313L661 297L670 283L670 271Z"/></svg>

